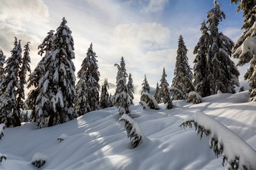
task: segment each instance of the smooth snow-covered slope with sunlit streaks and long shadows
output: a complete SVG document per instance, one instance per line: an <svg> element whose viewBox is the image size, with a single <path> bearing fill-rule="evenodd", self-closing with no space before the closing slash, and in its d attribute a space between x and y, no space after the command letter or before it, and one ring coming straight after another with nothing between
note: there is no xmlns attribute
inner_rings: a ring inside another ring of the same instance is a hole
<svg viewBox="0 0 256 170"><path fill-rule="evenodd" d="M245 91L209 96L197 105L174 101L170 110L164 104L158 111L132 106L132 117L146 136L134 149L114 107L40 130L35 123L6 128L0 153L7 160L0 169L36 169L31 162L37 155L46 159L40 169L225 169L209 148L209 137L200 140L194 128L178 126L184 118L202 112L256 149L256 103L247 100Z"/></svg>

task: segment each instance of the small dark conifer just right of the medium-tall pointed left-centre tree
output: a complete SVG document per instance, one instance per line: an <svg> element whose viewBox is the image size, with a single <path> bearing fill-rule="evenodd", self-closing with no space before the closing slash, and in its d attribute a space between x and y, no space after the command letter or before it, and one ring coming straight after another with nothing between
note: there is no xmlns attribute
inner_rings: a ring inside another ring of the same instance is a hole
<svg viewBox="0 0 256 170"><path fill-rule="evenodd" d="M110 89L110 86L107 82L107 79L105 79L100 95L100 109L109 108L111 106L110 95L108 94L107 89Z"/></svg>

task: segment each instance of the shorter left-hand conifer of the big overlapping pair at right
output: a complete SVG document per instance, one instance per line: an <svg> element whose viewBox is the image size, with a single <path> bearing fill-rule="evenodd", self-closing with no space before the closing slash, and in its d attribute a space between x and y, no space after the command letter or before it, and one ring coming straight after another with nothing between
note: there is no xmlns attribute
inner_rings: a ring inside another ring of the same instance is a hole
<svg viewBox="0 0 256 170"><path fill-rule="evenodd" d="M210 96L210 84L208 82L208 60L207 52L209 48L209 33L206 26L206 21L201 23L202 36L199 39L193 54L196 55L193 61L193 86L195 91L202 97Z"/></svg>

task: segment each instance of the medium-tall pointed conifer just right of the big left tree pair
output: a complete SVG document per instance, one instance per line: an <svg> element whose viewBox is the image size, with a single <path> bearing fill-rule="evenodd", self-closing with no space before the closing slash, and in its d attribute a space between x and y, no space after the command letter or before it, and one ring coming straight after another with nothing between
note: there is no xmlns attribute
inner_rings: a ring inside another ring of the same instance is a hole
<svg viewBox="0 0 256 170"><path fill-rule="evenodd" d="M92 50L92 43L87 50L85 59L82 61L81 69L78 72L78 84L75 87L75 90L78 93L78 99L75 105L80 107L77 110L79 115L83 115L90 111L95 111L99 108L99 90L100 84L100 72L98 71L99 67L97 65L96 53ZM80 89L81 86L86 89ZM84 99L82 99L84 98Z"/></svg>

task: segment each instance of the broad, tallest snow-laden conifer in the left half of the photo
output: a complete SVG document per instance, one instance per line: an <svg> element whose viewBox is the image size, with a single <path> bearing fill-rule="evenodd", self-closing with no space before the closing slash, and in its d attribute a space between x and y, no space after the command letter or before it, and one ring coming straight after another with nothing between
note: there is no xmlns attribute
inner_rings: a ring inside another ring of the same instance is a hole
<svg viewBox="0 0 256 170"><path fill-rule="evenodd" d="M54 35L53 47L44 59L45 74L39 80L36 98L38 128L48 120L48 126L65 123L78 115L74 109L75 101L75 59L74 41L71 30L63 18Z"/></svg>

